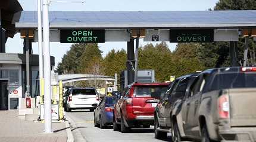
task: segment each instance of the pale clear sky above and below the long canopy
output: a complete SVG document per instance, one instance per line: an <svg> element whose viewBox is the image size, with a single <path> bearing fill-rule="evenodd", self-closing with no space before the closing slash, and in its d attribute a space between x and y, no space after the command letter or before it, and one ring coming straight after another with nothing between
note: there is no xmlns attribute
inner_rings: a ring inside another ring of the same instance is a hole
<svg viewBox="0 0 256 142"><path fill-rule="evenodd" d="M18 0L24 11L36 11L37 0ZM41 0L42 1L42 0ZM218 0L50 0L50 11L205 11L213 8ZM84 2L84 3L82 3ZM151 43L143 42L141 46ZM153 44L157 44L154 42ZM176 48L175 43L167 43L171 50ZM51 43L51 56L55 57L55 67L63 55L70 50L71 44ZM99 44L99 49L105 56L112 49L127 49L126 42L106 42ZM8 38L7 53L23 53L23 40L20 34ZM38 43L33 43L33 54L38 54Z"/></svg>

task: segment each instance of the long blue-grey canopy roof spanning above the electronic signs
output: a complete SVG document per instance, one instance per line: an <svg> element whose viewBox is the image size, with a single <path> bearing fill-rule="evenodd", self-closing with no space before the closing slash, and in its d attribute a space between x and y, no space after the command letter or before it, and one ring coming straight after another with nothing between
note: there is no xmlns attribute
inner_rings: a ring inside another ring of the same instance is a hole
<svg viewBox="0 0 256 142"><path fill-rule="evenodd" d="M16 15L16 28L38 26L36 11ZM49 22L51 29L255 28L256 11L51 11Z"/></svg>

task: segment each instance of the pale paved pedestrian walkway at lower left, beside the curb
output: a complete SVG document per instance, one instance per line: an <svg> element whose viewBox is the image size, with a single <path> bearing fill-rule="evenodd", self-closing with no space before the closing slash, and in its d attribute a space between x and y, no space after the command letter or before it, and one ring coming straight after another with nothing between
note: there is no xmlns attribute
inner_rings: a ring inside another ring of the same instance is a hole
<svg viewBox="0 0 256 142"><path fill-rule="evenodd" d="M53 133L43 133L44 124L20 120L18 111L0 111L1 142L66 142L64 122L53 122Z"/></svg>

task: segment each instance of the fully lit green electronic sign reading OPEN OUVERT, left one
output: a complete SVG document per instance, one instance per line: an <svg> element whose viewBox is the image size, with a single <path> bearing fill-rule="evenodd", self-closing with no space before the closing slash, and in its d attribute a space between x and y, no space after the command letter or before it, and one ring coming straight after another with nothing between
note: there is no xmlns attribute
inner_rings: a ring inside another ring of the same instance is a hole
<svg viewBox="0 0 256 142"><path fill-rule="evenodd" d="M105 43L105 30L60 30L61 43Z"/></svg>

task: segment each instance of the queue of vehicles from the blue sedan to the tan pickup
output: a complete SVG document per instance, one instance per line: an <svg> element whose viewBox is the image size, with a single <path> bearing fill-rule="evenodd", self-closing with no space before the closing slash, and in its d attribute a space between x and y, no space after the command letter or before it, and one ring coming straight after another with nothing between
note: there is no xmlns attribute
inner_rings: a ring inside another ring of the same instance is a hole
<svg viewBox="0 0 256 142"><path fill-rule="evenodd" d="M172 141L256 141L256 67L223 67L168 83L133 83L106 96L95 127L114 131L154 125L155 138Z"/></svg>

